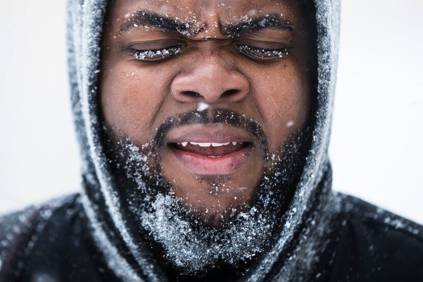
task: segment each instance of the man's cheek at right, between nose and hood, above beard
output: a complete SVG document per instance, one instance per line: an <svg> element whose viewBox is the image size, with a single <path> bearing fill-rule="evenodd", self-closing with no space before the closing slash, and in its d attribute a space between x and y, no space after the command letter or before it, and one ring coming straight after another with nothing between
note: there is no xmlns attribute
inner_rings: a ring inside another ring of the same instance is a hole
<svg viewBox="0 0 423 282"><path fill-rule="evenodd" d="M300 68L285 66L283 71L263 72L253 84L271 150L276 150L306 122L310 106L307 76Z"/></svg>

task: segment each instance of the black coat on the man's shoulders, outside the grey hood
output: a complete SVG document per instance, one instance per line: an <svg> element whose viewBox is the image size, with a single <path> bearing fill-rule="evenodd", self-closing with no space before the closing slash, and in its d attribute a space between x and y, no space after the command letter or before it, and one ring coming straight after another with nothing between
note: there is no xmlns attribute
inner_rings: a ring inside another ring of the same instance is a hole
<svg viewBox="0 0 423 282"><path fill-rule="evenodd" d="M354 197L342 206L310 281L423 281L422 226ZM0 218L0 281L118 281L88 228L79 195Z"/></svg>

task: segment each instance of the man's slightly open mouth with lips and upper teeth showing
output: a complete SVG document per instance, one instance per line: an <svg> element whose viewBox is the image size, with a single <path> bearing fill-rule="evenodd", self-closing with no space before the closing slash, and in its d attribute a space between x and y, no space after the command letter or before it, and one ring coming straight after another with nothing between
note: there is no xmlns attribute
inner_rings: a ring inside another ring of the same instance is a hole
<svg viewBox="0 0 423 282"><path fill-rule="evenodd" d="M179 162L201 175L229 175L247 162L251 137L227 129L182 132L167 142Z"/></svg>

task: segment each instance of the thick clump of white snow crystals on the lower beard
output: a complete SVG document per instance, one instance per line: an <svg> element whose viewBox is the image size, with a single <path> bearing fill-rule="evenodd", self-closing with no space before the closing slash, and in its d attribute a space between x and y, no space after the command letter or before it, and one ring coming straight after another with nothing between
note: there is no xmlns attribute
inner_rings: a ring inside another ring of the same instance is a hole
<svg viewBox="0 0 423 282"><path fill-rule="evenodd" d="M252 259L263 250L272 229L267 220L240 213L237 224L225 224L229 229L194 230L191 222L175 217L175 211L180 209L177 204L170 195L158 195L152 204L154 212L142 215L142 222L163 244L167 258L183 272L197 272L219 258L233 265Z"/></svg>

